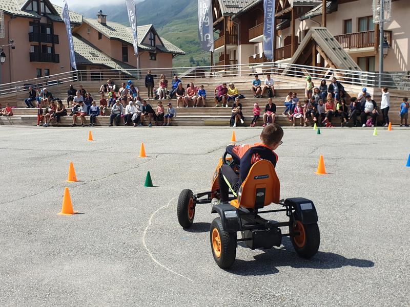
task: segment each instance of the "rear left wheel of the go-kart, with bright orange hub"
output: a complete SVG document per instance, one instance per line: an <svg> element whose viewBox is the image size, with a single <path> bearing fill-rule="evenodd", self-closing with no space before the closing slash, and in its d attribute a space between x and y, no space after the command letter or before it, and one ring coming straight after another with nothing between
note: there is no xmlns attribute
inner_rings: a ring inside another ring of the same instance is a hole
<svg viewBox="0 0 410 307"><path fill-rule="evenodd" d="M221 218L212 221L210 230L211 250L216 264L222 269L228 269L236 257L236 232L223 230Z"/></svg>

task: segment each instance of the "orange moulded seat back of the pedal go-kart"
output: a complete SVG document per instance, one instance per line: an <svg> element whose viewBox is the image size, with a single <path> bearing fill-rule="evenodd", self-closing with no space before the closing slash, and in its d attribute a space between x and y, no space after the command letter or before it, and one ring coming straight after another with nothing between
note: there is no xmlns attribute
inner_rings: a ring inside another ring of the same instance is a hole
<svg viewBox="0 0 410 307"><path fill-rule="evenodd" d="M231 205L239 208L263 208L279 203L280 182L275 167L270 161L259 160L252 165L247 178L242 182L238 199Z"/></svg>

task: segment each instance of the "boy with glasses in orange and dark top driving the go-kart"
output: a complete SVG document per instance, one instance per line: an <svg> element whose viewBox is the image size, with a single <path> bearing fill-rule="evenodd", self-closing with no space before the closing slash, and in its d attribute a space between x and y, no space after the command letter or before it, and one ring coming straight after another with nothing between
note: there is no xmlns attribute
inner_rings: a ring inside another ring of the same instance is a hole
<svg viewBox="0 0 410 307"><path fill-rule="evenodd" d="M276 167L278 156L273 151L282 144L283 130L277 124L269 125L263 128L260 134L261 143L254 145L229 145L226 151L230 153L235 160L239 159L239 177L229 165L222 165L219 169L219 192L220 202L227 203L229 199L229 190L237 197L239 187L247 178L249 171L254 163L259 160L271 161ZM237 162L237 161L236 161Z"/></svg>

